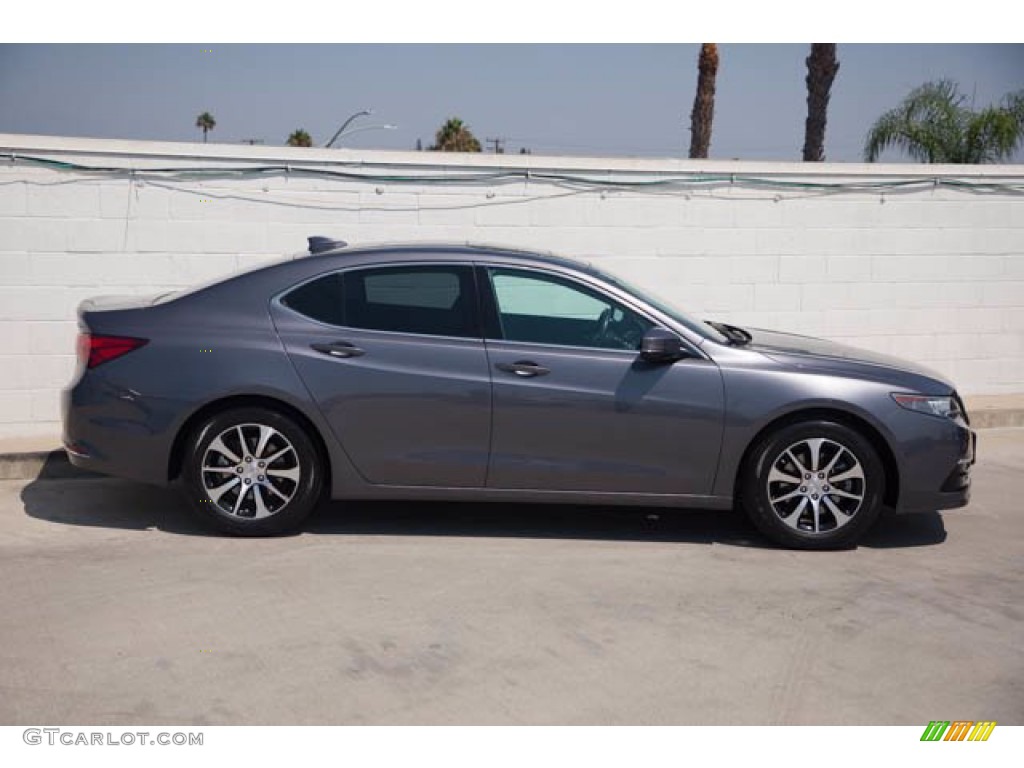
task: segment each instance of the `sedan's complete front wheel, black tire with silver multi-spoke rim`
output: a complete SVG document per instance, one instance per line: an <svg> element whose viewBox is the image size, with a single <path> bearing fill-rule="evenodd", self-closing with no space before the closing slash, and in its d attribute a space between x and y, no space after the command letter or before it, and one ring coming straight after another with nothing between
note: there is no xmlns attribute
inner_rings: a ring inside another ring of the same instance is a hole
<svg viewBox="0 0 1024 768"><path fill-rule="evenodd" d="M855 545L881 514L885 470L860 432L833 421L805 421L754 446L739 490L743 511L773 542L841 549Z"/></svg>

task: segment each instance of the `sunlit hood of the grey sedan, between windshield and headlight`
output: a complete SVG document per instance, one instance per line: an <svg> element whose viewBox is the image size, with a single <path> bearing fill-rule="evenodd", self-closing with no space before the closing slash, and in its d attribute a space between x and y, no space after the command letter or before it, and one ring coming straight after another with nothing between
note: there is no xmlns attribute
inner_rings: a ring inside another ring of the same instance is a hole
<svg viewBox="0 0 1024 768"><path fill-rule="evenodd" d="M950 391L955 388L952 382L937 371L900 357L880 354L812 336L799 336L798 334L785 334L758 328L745 330L753 338L743 348L761 352L777 362L784 362L801 369L822 369L829 372L849 371L855 367L858 369L858 374L861 375L865 373L865 368L884 369L931 379L941 386L948 387ZM878 375L871 378L893 380L892 375L885 375L885 371L879 371ZM907 385L910 386L910 383L908 382ZM921 385L919 383L914 386L920 387Z"/></svg>

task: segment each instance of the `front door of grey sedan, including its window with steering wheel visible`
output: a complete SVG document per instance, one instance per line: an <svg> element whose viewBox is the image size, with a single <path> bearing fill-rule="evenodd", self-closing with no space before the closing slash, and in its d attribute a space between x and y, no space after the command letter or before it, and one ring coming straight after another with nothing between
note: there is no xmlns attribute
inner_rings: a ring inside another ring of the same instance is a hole
<svg viewBox="0 0 1024 768"><path fill-rule="evenodd" d="M653 324L551 272L481 267L492 318L487 487L711 495L723 388L703 358L639 358Z"/></svg>

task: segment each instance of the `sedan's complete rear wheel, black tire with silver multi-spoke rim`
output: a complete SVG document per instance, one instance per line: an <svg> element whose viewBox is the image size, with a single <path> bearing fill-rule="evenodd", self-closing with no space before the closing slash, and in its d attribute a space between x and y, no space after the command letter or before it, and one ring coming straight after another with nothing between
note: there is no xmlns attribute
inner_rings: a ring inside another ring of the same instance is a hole
<svg viewBox="0 0 1024 768"><path fill-rule="evenodd" d="M319 502L325 472L315 444L295 421L269 409L240 408L193 432L182 475L202 522L255 537L296 528Z"/></svg>

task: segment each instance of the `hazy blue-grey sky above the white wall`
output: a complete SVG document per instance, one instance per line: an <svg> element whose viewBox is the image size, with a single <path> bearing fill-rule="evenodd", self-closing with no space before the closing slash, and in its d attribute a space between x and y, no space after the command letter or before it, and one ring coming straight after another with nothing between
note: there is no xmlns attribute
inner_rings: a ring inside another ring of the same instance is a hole
<svg viewBox="0 0 1024 768"><path fill-rule="evenodd" d="M722 44L711 157L800 160L809 45ZM428 145L450 117L506 152L685 157L697 44L0 45L0 133L283 144ZM1024 88L1021 44L840 44L826 160L861 159L913 87L957 81L980 108ZM905 160L888 153L883 160ZM1015 162L1024 162L1018 152Z"/></svg>

